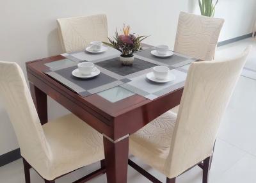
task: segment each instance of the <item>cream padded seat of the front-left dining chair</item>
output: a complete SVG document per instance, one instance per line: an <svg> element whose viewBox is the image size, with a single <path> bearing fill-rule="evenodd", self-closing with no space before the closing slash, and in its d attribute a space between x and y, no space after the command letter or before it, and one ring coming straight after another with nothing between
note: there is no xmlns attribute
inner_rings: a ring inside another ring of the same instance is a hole
<svg viewBox="0 0 256 183"><path fill-rule="evenodd" d="M43 125L51 149L49 180L104 159L102 135L75 115L66 115ZM37 170L40 173L40 170Z"/></svg>

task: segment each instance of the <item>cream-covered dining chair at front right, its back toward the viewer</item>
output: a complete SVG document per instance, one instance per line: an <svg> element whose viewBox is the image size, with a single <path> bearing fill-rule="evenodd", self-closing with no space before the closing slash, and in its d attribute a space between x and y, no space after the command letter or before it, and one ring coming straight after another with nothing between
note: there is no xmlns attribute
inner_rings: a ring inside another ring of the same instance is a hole
<svg viewBox="0 0 256 183"><path fill-rule="evenodd" d="M167 183L198 165L207 183L212 148L232 92L250 52L191 64L178 114L168 111L130 137L130 152L166 175ZM201 162L204 163L201 163ZM160 182L129 160L152 182Z"/></svg>

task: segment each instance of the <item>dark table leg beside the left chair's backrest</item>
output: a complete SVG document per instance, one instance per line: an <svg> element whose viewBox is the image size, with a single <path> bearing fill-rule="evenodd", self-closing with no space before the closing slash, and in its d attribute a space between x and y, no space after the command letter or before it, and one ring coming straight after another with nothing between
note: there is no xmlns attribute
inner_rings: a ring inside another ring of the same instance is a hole
<svg viewBox="0 0 256 183"><path fill-rule="evenodd" d="M38 117L42 125L48 122L47 115L47 95L37 88L33 83L29 83L31 97L34 101Z"/></svg>

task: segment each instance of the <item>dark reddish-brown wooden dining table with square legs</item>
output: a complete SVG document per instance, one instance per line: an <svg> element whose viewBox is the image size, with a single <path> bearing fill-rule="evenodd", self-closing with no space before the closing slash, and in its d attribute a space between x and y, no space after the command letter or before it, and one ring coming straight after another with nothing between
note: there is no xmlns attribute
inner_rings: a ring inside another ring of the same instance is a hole
<svg viewBox="0 0 256 183"><path fill-rule="evenodd" d="M45 63L63 59L58 55L26 63L31 95L40 122L44 125L48 121L48 95L103 135L108 183L127 182L129 136L179 105L183 87L154 100L136 93L116 102L104 99L97 93L81 97L45 74L49 71Z"/></svg>

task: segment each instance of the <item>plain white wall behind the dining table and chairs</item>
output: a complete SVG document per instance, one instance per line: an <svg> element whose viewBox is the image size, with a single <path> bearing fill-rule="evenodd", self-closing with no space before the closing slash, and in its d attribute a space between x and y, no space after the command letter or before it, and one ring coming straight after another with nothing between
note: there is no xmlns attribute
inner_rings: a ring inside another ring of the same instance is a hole
<svg viewBox="0 0 256 183"><path fill-rule="evenodd" d="M251 32L256 12L255 0L220 0L216 17L226 22L220 40ZM179 12L199 13L197 0L0 0L0 60L25 62L61 53L56 19L106 13L109 36L116 27L129 24L140 35L151 35L148 44L173 47ZM0 102L1 104L1 102ZM68 111L49 100L49 116ZM17 139L8 116L0 105L0 155L17 148Z"/></svg>

